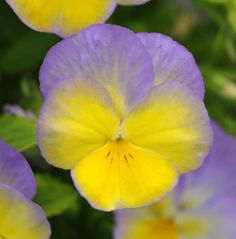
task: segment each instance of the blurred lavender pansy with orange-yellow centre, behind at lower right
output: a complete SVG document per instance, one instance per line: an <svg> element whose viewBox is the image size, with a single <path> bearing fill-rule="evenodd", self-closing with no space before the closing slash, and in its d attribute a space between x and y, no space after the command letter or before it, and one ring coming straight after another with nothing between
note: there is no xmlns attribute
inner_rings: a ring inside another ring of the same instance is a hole
<svg viewBox="0 0 236 239"><path fill-rule="evenodd" d="M236 139L214 124L215 140L203 166L182 176L167 197L147 208L120 210L115 239L234 239Z"/></svg>

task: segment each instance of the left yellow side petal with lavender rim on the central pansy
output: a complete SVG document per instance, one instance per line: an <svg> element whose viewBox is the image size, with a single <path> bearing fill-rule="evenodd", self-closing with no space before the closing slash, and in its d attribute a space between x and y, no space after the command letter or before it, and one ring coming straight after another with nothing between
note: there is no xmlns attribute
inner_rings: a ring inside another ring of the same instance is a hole
<svg viewBox="0 0 236 239"><path fill-rule="evenodd" d="M50 164L71 169L81 158L106 144L119 124L108 92L97 81L63 81L42 107L38 144Z"/></svg>

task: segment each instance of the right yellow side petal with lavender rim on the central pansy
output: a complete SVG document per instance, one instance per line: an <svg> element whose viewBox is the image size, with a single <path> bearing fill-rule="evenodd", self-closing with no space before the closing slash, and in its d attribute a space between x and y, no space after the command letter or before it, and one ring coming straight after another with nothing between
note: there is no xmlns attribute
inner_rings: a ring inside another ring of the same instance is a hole
<svg viewBox="0 0 236 239"><path fill-rule="evenodd" d="M199 167L212 142L204 104L177 83L154 87L123 127L125 140L167 157L181 173Z"/></svg>

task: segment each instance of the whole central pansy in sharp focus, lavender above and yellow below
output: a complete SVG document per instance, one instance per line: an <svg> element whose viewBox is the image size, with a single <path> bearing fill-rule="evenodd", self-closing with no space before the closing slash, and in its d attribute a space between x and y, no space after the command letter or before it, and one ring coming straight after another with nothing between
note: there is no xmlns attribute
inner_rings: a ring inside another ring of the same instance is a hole
<svg viewBox="0 0 236 239"><path fill-rule="evenodd" d="M211 144L192 55L161 34L94 25L47 54L38 144L95 208L150 204Z"/></svg>

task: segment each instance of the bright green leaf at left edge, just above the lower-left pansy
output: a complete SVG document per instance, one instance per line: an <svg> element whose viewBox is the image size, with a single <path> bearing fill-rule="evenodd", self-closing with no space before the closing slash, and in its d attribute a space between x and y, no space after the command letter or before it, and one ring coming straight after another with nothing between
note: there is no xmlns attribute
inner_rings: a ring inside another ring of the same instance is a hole
<svg viewBox="0 0 236 239"><path fill-rule="evenodd" d="M0 139L19 151L36 145L36 120L4 114L0 116Z"/></svg>

